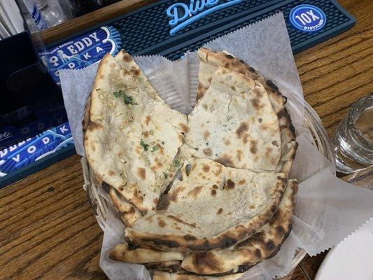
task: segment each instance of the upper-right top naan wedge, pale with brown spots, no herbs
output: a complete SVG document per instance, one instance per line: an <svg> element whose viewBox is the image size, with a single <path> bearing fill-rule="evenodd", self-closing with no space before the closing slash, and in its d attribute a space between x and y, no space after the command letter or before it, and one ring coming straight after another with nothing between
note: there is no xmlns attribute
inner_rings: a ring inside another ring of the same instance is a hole
<svg viewBox="0 0 373 280"><path fill-rule="evenodd" d="M281 157L279 119L265 88L219 67L188 116L185 144L195 157L241 169L272 172Z"/></svg>

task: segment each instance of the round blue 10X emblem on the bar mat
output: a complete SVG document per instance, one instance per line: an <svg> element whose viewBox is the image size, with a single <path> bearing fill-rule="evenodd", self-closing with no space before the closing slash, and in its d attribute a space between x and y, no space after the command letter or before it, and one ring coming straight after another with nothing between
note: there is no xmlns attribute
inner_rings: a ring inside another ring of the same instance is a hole
<svg viewBox="0 0 373 280"><path fill-rule="evenodd" d="M290 11L289 20L296 29L306 32L316 32L322 29L326 23L326 15L313 5L300 5Z"/></svg>

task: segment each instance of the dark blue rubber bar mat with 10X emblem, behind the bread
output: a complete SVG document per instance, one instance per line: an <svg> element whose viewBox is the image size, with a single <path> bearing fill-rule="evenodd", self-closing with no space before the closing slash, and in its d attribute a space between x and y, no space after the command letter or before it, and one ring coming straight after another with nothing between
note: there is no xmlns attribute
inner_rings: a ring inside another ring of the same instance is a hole
<svg viewBox="0 0 373 280"><path fill-rule="evenodd" d="M164 0L127 13L108 22L85 29L83 34L103 25L112 25L122 38L122 48L131 55L164 55L169 59L179 59L187 50L196 50L207 41L223 36L231 31L250 25L281 11L286 19L293 52L297 53L326 41L350 29L356 20L335 0L243 0L228 8L218 10L171 36L166 10L180 0ZM182 1L189 3L189 1ZM290 25L289 13L295 6L310 4L321 8L326 15L326 24L320 31L304 32ZM78 34L72 34L73 38ZM63 38L52 45L62 43Z"/></svg>

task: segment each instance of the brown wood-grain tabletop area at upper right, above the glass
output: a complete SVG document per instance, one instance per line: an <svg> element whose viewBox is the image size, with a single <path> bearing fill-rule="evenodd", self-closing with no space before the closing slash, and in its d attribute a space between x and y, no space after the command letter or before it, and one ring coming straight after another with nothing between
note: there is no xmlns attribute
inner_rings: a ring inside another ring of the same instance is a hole
<svg viewBox="0 0 373 280"><path fill-rule="evenodd" d="M373 80L373 1L339 3L356 17L356 26L295 55L304 97L329 134L353 102L372 92Z"/></svg>

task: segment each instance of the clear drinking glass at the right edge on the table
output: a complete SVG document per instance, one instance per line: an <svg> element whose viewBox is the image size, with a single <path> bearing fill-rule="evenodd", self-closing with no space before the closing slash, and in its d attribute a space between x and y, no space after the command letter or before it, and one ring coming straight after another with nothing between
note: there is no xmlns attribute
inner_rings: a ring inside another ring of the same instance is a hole
<svg viewBox="0 0 373 280"><path fill-rule="evenodd" d="M338 172L349 174L373 165L373 94L351 106L332 142Z"/></svg>

